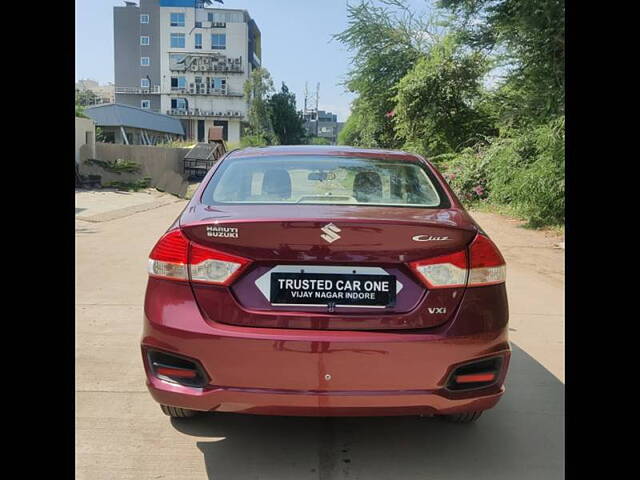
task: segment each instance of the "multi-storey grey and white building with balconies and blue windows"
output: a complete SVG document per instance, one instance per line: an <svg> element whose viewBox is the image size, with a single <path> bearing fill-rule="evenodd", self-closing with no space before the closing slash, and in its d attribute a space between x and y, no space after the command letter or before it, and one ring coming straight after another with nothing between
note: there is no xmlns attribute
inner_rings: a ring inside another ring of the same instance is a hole
<svg viewBox="0 0 640 480"><path fill-rule="evenodd" d="M246 10L202 0L140 0L114 7L116 103L181 120L187 138L209 127L240 140L243 87L261 63L260 30Z"/></svg>

